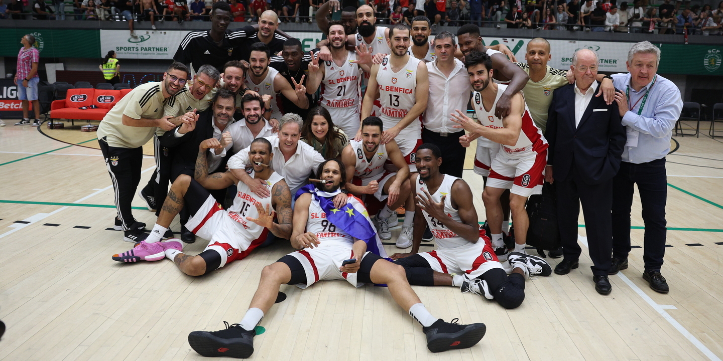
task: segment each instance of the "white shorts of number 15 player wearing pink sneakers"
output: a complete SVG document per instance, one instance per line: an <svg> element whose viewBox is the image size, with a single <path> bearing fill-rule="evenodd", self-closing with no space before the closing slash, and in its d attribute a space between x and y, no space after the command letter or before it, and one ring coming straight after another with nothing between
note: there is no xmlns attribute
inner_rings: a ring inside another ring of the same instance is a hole
<svg viewBox="0 0 723 361"><path fill-rule="evenodd" d="M261 235L252 240L248 232L241 230L239 222L228 217L228 211L213 196L208 196L196 214L186 222L186 227L200 238L208 240L204 251L212 249L221 255L219 268L245 258L268 236L268 229L264 228Z"/></svg>

